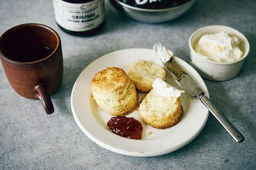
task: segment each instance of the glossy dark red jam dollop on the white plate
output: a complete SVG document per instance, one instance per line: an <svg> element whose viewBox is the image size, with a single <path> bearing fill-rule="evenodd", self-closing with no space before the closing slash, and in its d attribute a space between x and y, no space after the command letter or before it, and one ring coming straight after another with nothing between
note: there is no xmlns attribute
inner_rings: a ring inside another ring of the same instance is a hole
<svg viewBox="0 0 256 170"><path fill-rule="evenodd" d="M135 118L125 116L111 117L108 127L119 136L130 139L141 139L143 127Z"/></svg>

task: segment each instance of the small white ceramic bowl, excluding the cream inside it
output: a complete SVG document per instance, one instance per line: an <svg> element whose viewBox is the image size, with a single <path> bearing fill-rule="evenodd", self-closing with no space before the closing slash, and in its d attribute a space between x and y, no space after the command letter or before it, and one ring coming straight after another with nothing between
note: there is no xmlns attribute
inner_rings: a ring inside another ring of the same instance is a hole
<svg viewBox="0 0 256 170"><path fill-rule="evenodd" d="M195 52L194 46L204 34L213 34L221 31L227 32L229 36L236 36L239 38L241 41L239 48L243 51L241 59L227 63L215 62L207 60ZM236 29L224 25L209 25L196 30L189 38L189 48L191 66L193 66L203 78L214 81L225 81L234 78L241 70L244 59L246 59L250 51L250 45L246 37Z"/></svg>

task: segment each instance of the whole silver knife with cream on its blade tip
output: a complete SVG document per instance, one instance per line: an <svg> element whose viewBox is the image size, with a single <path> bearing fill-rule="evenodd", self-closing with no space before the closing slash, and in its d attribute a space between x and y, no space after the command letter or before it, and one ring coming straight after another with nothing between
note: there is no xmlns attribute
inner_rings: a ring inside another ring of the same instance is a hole
<svg viewBox="0 0 256 170"><path fill-rule="evenodd" d="M172 51L168 50L168 48L164 47L161 43L156 43L153 46L153 50L156 52L161 62L163 62L166 69L172 74L173 78L179 82L180 86L191 96L200 99L236 142L244 141L244 136L220 113L220 111L218 111L210 99L205 96L204 90L202 90L196 81L175 61Z"/></svg>

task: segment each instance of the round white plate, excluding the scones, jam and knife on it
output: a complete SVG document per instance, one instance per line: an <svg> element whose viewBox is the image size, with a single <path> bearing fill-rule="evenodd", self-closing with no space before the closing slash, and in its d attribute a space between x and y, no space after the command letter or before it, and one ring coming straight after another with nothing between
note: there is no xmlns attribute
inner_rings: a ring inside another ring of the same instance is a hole
<svg viewBox="0 0 256 170"><path fill-rule="evenodd" d="M154 129L141 120L136 110L132 111L127 117L134 117L143 125L143 138L136 140L123 138L111 132L107 122L113 116L97 106L92 98L90 82L98 71L107 67L120 67L127 71L129 64L138 59L162 65L153 50L132 48L108 53L87 66L77 78L72 89L71 108L74 119L88 138L113 152L140 157L173 152L192 141L202 131L207 121L208 110L199 99L190 97L188 93L182 94L180 99L184 115L179 124L169 129ZM182 59L176 60L193 76L205 91L206 96L209 96L204 80L195 69ZM166 81L180 89L168 73L166 73ZM142 94L140 98L141 96Z"/></svg>

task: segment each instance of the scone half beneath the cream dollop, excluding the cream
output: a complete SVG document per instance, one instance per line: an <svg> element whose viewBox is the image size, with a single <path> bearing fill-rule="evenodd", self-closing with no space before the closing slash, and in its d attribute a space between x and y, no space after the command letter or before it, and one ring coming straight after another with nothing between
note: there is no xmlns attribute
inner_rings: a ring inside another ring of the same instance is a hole
<svg viewBox="0 0 256 170"><path fill-rule="evenodd" d="M152 89L143 97L138 113L146 124L166 129L178 124L183 110L179 97L163 97Z"/></svg>

